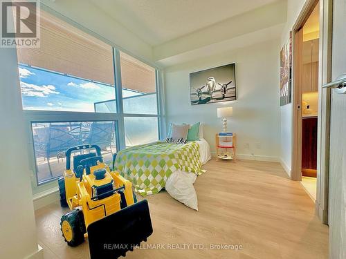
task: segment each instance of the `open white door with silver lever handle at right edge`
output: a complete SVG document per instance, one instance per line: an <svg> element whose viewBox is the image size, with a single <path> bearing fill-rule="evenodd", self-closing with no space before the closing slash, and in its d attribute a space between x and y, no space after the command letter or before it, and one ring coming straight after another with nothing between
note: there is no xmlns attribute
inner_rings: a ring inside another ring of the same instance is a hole
<svg viewBox="0 0 346 259"><path fill-rule="evenodd" d="M329 0L330 1L330 0ZM346 258L346 1L333 1L329 148L329 258Z"/></svg>

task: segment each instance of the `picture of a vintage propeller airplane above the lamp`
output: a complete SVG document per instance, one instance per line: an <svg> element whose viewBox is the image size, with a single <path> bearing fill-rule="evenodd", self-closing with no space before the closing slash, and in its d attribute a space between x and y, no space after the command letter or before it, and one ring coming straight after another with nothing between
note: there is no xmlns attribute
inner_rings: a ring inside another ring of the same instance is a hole
<svg viewBox="0 0 346 259"><path fill-rule="evenodd" d="M190 73L192 105L234 101L236 93L234 63Z"/></svg>

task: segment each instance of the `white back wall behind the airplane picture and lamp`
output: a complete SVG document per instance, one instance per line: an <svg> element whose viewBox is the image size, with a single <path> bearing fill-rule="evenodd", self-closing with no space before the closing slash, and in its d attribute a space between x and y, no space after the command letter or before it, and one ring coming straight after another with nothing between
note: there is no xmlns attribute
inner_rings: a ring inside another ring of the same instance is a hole
<svg viewBox="0 0 346 259"><path fill-rule="evenodd" d="M167 122L203 122L205 138L215 152L215 133L222 128L217 107L233 106L228 129L238 135L239 156L277 161L280 153L279 45L279 40L267 41L165 68ZM189 73L233 62L237 101L191 106ZM245 147L246 143L249 148ZM257 144L261 148L257 148Z"/></svg>

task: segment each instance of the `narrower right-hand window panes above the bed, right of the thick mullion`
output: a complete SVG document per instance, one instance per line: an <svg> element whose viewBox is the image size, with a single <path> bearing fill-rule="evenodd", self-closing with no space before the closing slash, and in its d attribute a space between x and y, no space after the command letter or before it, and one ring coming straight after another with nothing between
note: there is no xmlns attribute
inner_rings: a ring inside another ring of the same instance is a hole
<svg viewBox="0 0 346 259"><path fill-rule="evenodd" d="M126 146L158 140L156 70L120 52ZM136 117L128 117L135 114ZM140 115L140 117L138 117ZM149 115L156 115L149 117Z"/></svg>

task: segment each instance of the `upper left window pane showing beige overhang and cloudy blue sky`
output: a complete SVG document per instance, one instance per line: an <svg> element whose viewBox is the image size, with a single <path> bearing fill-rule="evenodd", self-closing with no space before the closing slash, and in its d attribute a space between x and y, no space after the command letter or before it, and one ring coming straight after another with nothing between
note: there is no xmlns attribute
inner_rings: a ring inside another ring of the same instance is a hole
<svg viewBox="0 0 346 259"><path fill-rule="evenodd" d="M24 110L116 112L113 48L103 41L42 11L41 47L17 53Z"/></svg>

